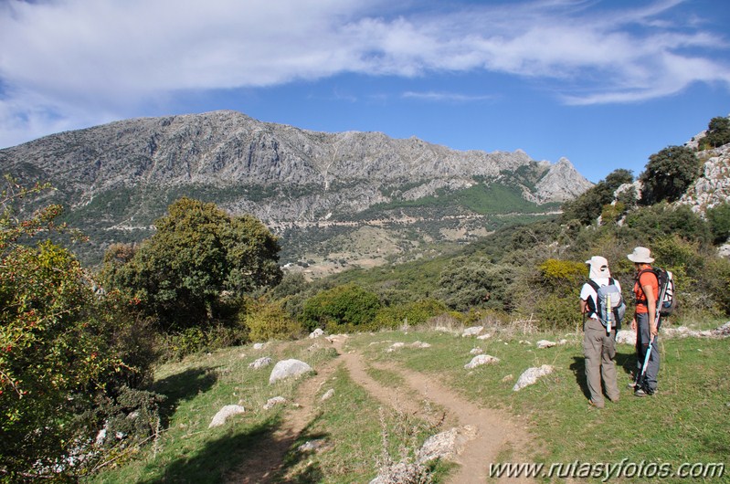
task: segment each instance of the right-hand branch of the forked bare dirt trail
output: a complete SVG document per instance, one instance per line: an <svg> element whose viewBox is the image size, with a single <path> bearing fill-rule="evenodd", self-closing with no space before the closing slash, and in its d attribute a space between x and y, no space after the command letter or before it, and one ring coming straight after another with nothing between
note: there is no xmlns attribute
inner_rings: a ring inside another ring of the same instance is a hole
<svg viewBox="0 0 730 484"><path fill-rule="evenodd" d="M420 405L414 402L407 392L379 384L366 372L366 366L357 352L345 352L341 339L333 341L335 348L356 384L365 388L377 400L392 405L399 410L418 414ZM514 462L523 461L521 455L530 444L531 437L527 431L513 422L503 411L482 408L457 395L453 390L440 384L434 378L409 371L402 367L388 365L387 370L400 374L407 386L416 390L427 400L443 407L448 416L458 420L460 426L471 426L476 429L476 437L464 444L457 462L460 469L449 480L451 484L484 483L489 479L489 465L496 463L500 452L512 451ZM530 479L500 479L499 482L534 482Z"/></svg>

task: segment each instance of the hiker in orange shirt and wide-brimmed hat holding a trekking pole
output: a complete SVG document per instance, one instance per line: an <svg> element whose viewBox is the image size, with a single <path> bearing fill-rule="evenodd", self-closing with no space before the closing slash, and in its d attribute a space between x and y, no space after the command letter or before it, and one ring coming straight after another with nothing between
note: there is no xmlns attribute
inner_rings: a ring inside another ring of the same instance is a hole
<svg viewBox="0 0 730 484"><path fill-rule="evenodd" d="M636 311L631 321L631 330L636 331L636 371L641 374L646 353L651 344L651 354L647 363L643 387L634 386L634 395L653 395L657 389L657 374L659 374L659 344L657 344L656 312L659 297L659 279L651 268L654 258L647 247L635 247L627 258L634 263L636 280L634 282L634 296L636 296Z"/></svg>

